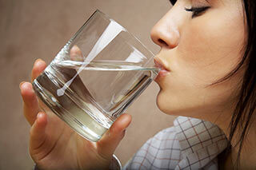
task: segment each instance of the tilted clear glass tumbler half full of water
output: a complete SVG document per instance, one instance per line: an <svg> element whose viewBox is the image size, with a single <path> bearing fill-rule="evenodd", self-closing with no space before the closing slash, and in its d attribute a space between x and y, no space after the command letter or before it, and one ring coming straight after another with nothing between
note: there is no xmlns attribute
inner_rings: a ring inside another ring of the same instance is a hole
<svg viewBox="0 0 256 170"><path fill-rule="evenodd" d="M42 109L97 141L154 77L154 55L99 10L33 82Z"/></svg>

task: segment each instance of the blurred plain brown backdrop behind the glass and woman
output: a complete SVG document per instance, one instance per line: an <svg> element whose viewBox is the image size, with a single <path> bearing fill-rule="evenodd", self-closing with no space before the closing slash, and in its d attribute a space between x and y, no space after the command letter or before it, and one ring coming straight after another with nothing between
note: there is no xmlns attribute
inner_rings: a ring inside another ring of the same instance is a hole
<svg viewBox="0 0 256 170"><path fill-rule="evenodd" d="M168 0L0 0L0 169L34 167L18 85L30 81L37 58L49 64L96 9L156 54L159 47L150 40L150 30L170 7ZM146 140L173 125L175 117L161 113L155 104L158 90L152 83L127 111L133 121L115 152L123 165Z"/></svg>

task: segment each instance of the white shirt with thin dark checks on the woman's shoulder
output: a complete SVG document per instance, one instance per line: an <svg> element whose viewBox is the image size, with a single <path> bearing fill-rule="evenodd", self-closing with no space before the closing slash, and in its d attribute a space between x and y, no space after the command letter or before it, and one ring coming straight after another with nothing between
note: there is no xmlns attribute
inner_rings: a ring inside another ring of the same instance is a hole
<svg viewBox="0 0 256 170"><path fill-rule="evenodd" d="M143 144L122 168L130 169L218 169L218 154L228 140L209 121L178 117L174 127L158 132ZM112 169L120 169L118 160Z"/></svg>

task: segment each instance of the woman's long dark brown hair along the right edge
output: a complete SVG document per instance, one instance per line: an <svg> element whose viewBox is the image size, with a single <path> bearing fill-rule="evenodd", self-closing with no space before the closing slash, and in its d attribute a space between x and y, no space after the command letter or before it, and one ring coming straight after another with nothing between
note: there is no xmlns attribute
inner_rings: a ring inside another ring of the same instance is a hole
<svg viewBox="0 0 256 170"><path fill-rule="evenodd" d="M230 141L236 138L236 146L238 147L238 156L234 164L235 168L239 167L239 160L241 156L242 146L246 136L249 132L250 125L254 121L256 109L256 21L255 0L244 0L244 19L246 25L246 45L242 60L229 75L234 75L242 67L246 66L246 72L242 78L242 86L239 92L238 102L234 109L232 119L230 121L229 136ZM225 77L224 79L228 78ZM231 151L231 144L226 149L225 155Z"/></svg>

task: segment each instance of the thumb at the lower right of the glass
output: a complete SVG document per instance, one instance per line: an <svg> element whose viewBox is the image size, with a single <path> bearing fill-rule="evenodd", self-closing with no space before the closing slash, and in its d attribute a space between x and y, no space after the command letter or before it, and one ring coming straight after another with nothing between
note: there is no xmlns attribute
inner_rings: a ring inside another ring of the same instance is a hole
<svg viewBox="0 0 256 170"><path fill-rule="evenodd" d="M130 125L131 116L122 114L110 129L102 136L102 139L97 142L98 152L106 158L113 155L115 148L125 135L126 128Z"/></svg>

